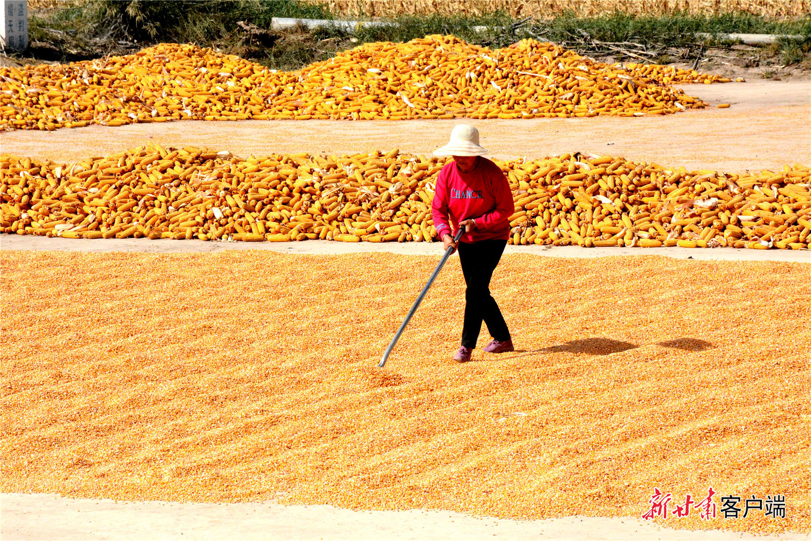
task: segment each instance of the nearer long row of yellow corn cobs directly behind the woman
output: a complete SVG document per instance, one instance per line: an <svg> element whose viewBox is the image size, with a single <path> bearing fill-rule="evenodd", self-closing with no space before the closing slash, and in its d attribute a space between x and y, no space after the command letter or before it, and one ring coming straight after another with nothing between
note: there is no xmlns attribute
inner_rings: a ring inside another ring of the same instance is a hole
<svg viewBox="0 0 811 541"><path fill-rule="evenodd" d="M0 231L62 238L436 241L448 158L393 150L235 157L133 148L73 164L0 155ZM514 194L510 243L804 249L811 170L723 174L575 153L496 161Z"/></svg>

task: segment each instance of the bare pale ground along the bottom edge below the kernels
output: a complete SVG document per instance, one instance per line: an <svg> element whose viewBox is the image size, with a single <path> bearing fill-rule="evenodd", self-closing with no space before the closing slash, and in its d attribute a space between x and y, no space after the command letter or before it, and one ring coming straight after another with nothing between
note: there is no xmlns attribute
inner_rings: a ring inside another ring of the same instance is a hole
<svg viewBox="0 0 811 541"><path fill-rule="evenodd" d="M15 539L809 539L662 528L637 517L511 521L448 511L350 511L331 505L178 504L3 494L0 537Z"/></svg>

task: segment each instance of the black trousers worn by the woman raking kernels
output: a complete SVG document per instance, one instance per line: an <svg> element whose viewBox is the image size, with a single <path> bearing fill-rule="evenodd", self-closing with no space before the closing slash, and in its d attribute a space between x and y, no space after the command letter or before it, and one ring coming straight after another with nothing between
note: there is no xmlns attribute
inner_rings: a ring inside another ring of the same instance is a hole
<svg viewBox="0 0 811 541"><path fill-rule="evenodd" d="M461 331L461 345L471 350L476 347L482 320L487 330L498 341L508 341L509 329L501 316L496 299L490 294L490 278L507 241L493 238L478 243L459 243L461 272L465 275L465 325Z"/></svg>

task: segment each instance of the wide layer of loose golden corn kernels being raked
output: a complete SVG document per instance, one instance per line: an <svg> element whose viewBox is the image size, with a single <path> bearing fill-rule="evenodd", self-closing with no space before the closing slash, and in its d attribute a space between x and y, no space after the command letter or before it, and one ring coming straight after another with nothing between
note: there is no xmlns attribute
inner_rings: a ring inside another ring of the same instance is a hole
<svg viewBox="0 0 811 541"><path fill-rule="evenodd" d="M459 365L453 257L376 368L439 257L4 251L2 490L811 530L809 265L505 255Z"/></svg>

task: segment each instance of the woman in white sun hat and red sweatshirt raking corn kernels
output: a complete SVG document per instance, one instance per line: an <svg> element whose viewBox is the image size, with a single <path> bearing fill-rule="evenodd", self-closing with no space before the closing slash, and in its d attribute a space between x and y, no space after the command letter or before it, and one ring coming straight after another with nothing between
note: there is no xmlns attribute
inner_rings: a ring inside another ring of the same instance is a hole
<svg viewBox="0 0 811 541"><path fill-rule="evenodd" d="M507 218L513 213L513 192L499 167L482 156L485 153L478 144L478 130L466 124L454 127L448 144L434 151L435 156L453 156L436 180L432 207L434 226L445 250L459 251L467 285L461 347L453 356L460 363L470 361L482 321L493 337L485 351L513 351L507 324L490 294L490 278L509 238ZM453 242L451 224L465 228L459 243Z"/></svg>

